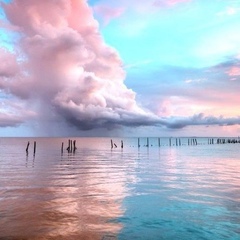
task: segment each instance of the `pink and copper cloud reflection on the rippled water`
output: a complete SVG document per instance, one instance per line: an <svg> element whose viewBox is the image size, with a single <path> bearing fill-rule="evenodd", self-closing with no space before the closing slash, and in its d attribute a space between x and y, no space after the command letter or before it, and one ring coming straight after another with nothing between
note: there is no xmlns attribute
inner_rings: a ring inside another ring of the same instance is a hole
<svg viewBox="0 0 240 240"><path fill-rule="evenodd" d="M1 171L0 237L116 238L122 225L110 220L123 214L126 173L115 161L122 151L113 159L109 152L89 149L49 155L27 156L25 168L20 164L17 171L8 162Z"/></svg>

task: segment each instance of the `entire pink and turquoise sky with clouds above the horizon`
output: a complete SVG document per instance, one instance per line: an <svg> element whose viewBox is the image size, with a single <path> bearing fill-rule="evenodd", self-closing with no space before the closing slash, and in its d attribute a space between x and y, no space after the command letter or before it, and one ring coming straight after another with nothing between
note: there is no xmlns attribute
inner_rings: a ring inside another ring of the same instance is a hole
<svg viewBox="0 0 240 240"><path fill-rule="evenodd" d="M240 0L0 0L0 136L240 136Z"/></svg>

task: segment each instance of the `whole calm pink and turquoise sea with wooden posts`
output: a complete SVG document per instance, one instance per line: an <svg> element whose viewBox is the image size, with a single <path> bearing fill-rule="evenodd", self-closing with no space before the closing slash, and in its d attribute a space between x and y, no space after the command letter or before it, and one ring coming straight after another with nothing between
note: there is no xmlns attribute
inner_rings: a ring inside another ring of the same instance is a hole
<svg viewBox="0 0 240 240"><path fill-rule="evenodd" d="M0 138L0 240L45 239L240 239L239 138Z"/></svg>

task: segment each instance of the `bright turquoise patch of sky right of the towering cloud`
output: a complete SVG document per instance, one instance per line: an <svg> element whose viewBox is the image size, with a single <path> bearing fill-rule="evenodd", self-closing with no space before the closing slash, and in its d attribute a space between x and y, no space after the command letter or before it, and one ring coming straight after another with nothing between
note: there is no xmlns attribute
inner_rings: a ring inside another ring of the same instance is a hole
<svg viewBox="0 0 240 240"><path fill-rule="evenodd" d="M95 9L101 4L111 8L107 1L92 4ZM114 8L124 8L120 4ZM133 1L107 23L104 13L95 14L106 42L120 52L126 64L151 61L160 66L201 68L221 63L239 50L236 1L195 0L162 8L150 4L137 11Z"/></svg>

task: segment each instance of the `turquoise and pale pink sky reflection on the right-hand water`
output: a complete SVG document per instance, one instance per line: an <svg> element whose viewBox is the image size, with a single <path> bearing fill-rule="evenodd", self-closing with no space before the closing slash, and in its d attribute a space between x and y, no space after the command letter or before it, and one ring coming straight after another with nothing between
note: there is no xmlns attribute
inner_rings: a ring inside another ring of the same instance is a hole
<svg viewBox="0 0 240 240"><path fill-rule="evenodd" d="M231 157L211 146L141 150L119 239L238 239L240 162L232 150Z"/></svg>

